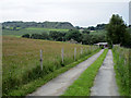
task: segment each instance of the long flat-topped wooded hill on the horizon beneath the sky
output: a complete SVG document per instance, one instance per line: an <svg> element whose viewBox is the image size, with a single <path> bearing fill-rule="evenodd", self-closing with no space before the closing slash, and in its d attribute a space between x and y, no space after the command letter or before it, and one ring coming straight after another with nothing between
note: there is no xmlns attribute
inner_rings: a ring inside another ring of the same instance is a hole
<svg viewBox="0 0 131 98"><path fill-rule="evenodd" d="M74 26L69 22L22 22L22 21L14 21L14 22L4 22L2 23L3 28L12 28L16 29L26 28L26 27L43 27L43 28L62 28L62 29L72 29Z"/></svg>

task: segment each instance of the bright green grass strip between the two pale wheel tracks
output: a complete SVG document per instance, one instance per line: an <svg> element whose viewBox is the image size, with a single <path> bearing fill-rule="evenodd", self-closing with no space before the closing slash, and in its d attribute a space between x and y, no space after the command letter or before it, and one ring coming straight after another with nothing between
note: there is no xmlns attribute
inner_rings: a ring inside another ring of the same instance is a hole
<svg viewBox="0 0 131 98"><path fill-rule="evenodd" d="M74 81L74 83L66 90L62 96L90 96L91 87L93 86L95 76L98 72L98 69L103 64L108 49L105 49L105 51L97 58L97 60L92 65L90 65L76 81Z"/></svg>

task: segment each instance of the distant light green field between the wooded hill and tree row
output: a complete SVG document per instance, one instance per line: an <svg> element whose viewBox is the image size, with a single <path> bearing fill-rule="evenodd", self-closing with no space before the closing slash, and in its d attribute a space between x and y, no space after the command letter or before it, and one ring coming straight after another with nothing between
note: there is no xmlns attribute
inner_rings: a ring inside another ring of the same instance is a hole
<svg viewBox="0 0 131 98"><path fill-rule="evenodd" d="M9 30L3 29L2 35L8 36L22 36L24 34L41 34L41 33L49 33L50 30L57 30L57 32L68 32L69 29L52 29L52 28L37 28L37 27L28 27L28 28L22 28L19 30Z"/></svg>

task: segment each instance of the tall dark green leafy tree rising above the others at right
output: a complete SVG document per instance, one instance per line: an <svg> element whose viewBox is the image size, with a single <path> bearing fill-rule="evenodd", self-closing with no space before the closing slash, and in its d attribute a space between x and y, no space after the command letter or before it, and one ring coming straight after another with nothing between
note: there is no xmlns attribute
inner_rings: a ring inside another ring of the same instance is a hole
<svg viewBox="0 0 131 98"><path fill-rule="evenodd" d="M121 16L114 14L107 25L107 39L109 44L124 44L126 24Z"/></svg>

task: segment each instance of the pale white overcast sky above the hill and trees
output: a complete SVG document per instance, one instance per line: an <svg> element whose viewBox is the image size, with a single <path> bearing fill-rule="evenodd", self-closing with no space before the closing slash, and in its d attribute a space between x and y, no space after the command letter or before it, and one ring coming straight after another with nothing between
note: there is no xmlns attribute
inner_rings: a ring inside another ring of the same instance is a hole
<svg viewBox="0 0 131 98"><path fill-rule="evenodd" d="M70 22L74 26L108 23L119 14L129 24L130 0L0 0L0 22ZM2 14L2 15L1 15Z"/></svg>

